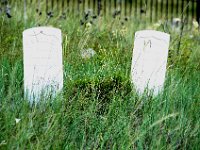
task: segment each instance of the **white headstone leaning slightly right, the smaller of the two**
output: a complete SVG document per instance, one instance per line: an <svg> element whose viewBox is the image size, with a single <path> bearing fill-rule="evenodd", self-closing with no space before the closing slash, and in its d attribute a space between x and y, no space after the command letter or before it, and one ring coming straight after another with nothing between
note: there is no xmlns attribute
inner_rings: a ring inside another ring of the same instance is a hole
<svg viewBox="0 0 200 150"><path fill-rule="evenodd" d="M136 90L157 95L164 86L170 35L153 30L135 33L131 78Z"/></svg>

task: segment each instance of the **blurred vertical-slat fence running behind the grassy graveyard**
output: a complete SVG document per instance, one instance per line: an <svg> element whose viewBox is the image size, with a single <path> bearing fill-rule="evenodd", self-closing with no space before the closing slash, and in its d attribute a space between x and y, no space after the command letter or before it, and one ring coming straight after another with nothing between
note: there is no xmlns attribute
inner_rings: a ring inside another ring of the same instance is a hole
<svg viewBox="0 0 200 150"><path fill-rule="evenodd" d="M23 5L24 13L33 9L32 12L48 17L61 14L65 18L91 11L96 16L145 17L150 22L173 18L200 22L200 0L1 0L1 12L11 17L12 6L17 4Z"/></svg>

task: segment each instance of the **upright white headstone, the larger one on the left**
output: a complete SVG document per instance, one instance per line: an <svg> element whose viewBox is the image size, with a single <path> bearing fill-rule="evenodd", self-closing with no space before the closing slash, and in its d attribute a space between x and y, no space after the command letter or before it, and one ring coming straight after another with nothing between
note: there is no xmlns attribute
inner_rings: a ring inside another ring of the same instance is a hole
<svg viewBox="0 0 200 150"><path fill-rule="evenodd" d="M37 27L23 32L24 90L28 100L38 102L63 88L61 30Z"/></svg>

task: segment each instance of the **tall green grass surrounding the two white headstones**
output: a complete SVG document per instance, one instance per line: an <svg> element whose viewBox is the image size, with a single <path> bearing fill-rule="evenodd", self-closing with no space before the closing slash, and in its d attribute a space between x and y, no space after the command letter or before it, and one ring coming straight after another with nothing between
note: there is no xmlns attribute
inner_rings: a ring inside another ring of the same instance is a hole
<svg viewBox="0 0 200 150"><path fill-rule="evenodd" d="M171 33L164 92L138 96L130 84L137 22L51 19L63 33L64 96L30 107L23 98L22 32L37 22L0 18L0 149L199 149L199 32ZM190 37L192 35L192 37ZM97 55L82 59L80 51ZM16 123L15 119L21 119Z"/></svg>

